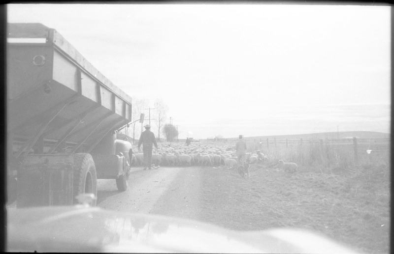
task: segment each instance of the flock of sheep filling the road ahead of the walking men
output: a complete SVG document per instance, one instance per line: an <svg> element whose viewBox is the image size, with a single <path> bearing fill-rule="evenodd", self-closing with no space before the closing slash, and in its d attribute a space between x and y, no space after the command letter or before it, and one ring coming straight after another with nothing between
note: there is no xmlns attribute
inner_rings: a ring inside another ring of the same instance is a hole
<svg viewBox="0 0 394 254"><path fill-rule="evenodd" d="M215 146L213 144L205 144L193 142L190 145L183 143L158 143L159 148L154 150L152 154L152 164L155 167L185 167L185 166L210 166L210 167L226 167L234 169L238 165L238 159L235 154L233 145ZM143 166L143 153L137 149L133 149L131 158L131 166ZM260 160L259 158L260 157ZM247 153L246 161L249 165L266 165L279 166L290 172L295 172L297 165L295 163L279 162L268 154Z"/></svg>

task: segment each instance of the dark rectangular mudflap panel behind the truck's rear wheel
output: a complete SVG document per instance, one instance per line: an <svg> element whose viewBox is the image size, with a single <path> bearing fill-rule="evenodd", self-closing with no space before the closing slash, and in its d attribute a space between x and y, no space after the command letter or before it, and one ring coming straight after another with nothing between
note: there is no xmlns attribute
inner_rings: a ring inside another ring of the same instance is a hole
<svg viewBox="0 0 394 254"><path fill-rule="evenodd" d="M73 155L26 156L17 169L17 208L72 205Z"/></svg>

